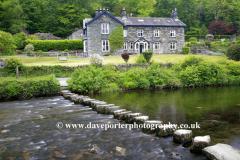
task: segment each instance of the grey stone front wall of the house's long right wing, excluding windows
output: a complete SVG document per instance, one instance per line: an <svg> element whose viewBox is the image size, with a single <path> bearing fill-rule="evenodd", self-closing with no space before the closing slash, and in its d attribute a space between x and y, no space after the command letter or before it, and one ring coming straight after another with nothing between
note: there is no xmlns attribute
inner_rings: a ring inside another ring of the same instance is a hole
<svg viewBox="0 0 240 160"><path fill-rule="evenodd" d="M143 38L146 39L149 44L148 46L152 49L154 54L158 53L176 53L182 52L182 48L185 45L185 37L184 37L184 28L183 27L141 27L141 26L133 26L133 27L124 27L124 30L127 30L127 37L124 38L124 41L127 43L127 50L124 52L127 53L136 53L135 44L134 49L130 49L130 43L136 42L140 37L137 35L137 30L143 30ZM154 37L154 30L159 30L159 37ZM170 37L170 30L175 30L175 37ZM154 49L154 43L160 42L160 49ZM170 50L170 42L176 42L176 50Z"/></svg>

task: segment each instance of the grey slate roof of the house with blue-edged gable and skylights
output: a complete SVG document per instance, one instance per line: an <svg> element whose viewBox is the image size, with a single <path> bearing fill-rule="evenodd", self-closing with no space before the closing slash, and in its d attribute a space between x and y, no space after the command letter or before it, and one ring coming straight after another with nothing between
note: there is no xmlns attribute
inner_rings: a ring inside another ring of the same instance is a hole
<svg viewBox="0 0 240 160"><path fill-rule="evenodd" d="M124 26L187 27L187 25L184 24L179 19L174 20L173 18L159 18L159 17L128 17L127 19L122 20L122 17L114 17L106 11L103 11L101 14L88 21L85 25L87 26L104 13L108 14L110 17L112 17L113 19L115 19L117 22L121 23Z"/></svg>

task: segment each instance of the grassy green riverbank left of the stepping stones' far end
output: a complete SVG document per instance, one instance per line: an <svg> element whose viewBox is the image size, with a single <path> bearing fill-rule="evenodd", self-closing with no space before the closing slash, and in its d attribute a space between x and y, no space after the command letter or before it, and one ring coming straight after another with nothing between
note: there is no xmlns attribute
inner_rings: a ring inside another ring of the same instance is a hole
<svg viewBox="0 0 240 160"><path fill-rule="evenodd" d="M16 79L0 78L0 100L25 99L56 94L61 87L54 75Z"/></svg>

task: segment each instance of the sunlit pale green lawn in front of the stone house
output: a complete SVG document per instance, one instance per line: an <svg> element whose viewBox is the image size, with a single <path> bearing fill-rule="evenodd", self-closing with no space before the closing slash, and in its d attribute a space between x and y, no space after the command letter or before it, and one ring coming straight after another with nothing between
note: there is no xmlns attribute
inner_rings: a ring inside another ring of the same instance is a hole
<svg viewBox="0 0 240 160"><path fill-rule="evenodd" d="M187 55L154 55L152 60L156 63L178 63L185 59ZM202 56L202 55L199 55ZM226 60L226 56L202 56L206 60L210 61L221 61ZM1 59L10 59L10 58L18 58L20 59L24 65L26 66L53 66L53 65L63 65L63 66L77 66L77 65L88 65L89 58L76 59L75 56L71 57L71 61L60 61L57 62L56 57L25 57L25 56L2 56ZM136 63L138 55L130 56L128 63L133 64ZM104 57L104 64L125 64L125 61L122 57Z"/></svg>

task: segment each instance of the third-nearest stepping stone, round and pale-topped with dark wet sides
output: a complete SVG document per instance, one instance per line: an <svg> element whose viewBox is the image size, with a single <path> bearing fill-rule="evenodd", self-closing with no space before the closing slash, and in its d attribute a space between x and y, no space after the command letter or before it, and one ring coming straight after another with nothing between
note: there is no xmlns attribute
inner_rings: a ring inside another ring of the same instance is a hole
<svg viewBox="0 0 240 160"><path fill-rule="evenodd" d="M185 143L191 141L192 130L179 129L173 133L173 141L176 143Z"/></svg>

